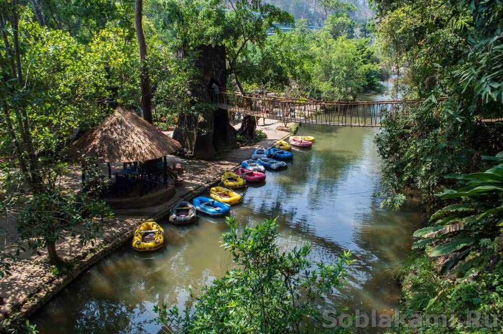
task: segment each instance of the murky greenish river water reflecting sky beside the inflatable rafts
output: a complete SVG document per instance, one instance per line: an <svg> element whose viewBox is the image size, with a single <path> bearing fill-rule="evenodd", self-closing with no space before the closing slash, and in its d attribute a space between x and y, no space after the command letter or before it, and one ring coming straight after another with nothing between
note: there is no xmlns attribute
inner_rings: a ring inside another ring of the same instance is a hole
<svg viewBox="0 0 503 334"><path fill-rule="evenodd" d="M294 150L288 169L267 172L263 185L241 190L231 215L241 227L278 217L285 249L312 245L312 259L335 262L350 250L356 262L346 287L330 299L356 309L393 313L399 288L391 269L410 249L420 210L408 202L398 212L379 208L381 161L378 129L303 125L313 135L310 150ZM154 305L183 308L187 288L195 294L231 267L220 247L224 218L200 217L197 224L163 225L167 245L136 253L126 245L80 275L32 317L41 333L155 333ZM364 330L375 332L373 329Z"/></svg>

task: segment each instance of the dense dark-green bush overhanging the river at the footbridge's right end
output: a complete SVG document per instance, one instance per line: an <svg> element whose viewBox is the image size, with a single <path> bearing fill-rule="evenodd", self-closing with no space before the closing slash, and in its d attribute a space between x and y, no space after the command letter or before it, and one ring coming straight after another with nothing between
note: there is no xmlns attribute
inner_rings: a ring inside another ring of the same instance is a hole
<svg viewBox="0 0 503 334"><path fill-rule="evenodd" d="M381 182L385 199L381 205L397 209L406 198L404 192L411 188L418 190L426 205L435 207L435 193L442 184L449 184L444 175L471 168L473 151L460 145L457 129L442 129L432 108L436 107L424 103L410 107L408 115L383 120L384 130L375 139L384 159Z"/></svg>

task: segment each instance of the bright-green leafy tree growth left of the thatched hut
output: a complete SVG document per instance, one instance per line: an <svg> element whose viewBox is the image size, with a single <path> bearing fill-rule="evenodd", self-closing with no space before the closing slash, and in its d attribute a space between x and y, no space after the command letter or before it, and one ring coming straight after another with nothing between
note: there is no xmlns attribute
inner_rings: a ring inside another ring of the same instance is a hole
<svg viewBox="0 0 503 334"><path fill-rule="evenodd" d="M93 240L100 227L95 213L109 212L96 200L98 193L68 196L57 185L66 171L71 134L86 123L74 116L83 120L99 110L104 90L97 87L103 81L93 68L96 58L85 55L83 46L65 32L42 28L29 14L17 1L0 2L0 214L16 218L14 235L21 243L34 251L46 248L57 263L59 238L78 234L83 243ZM82 101L94 103L87 108ZM86 109L94 110L82 112Z"/></svg>

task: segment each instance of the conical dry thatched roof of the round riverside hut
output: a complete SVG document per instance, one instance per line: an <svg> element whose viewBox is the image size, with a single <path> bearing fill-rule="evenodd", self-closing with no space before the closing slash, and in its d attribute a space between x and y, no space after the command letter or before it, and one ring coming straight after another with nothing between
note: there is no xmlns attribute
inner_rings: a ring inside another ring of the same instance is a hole
<svg viewBox="0 0 503 334"><path fill-rule="evenodd" d="M99 126L72 144L72 152L100 158L103 162L157 159L181 148L179 142L120 106Z"/></svg>

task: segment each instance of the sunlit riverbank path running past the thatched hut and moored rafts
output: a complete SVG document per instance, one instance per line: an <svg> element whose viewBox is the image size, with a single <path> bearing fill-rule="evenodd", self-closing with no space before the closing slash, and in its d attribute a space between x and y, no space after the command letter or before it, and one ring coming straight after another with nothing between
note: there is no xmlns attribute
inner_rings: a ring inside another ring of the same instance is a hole
<svg viewBox="0 0 503 334"><path fill-rule="evenodd" d="M80 273L130 240L142 219L161 219L177 201L190 199L206 191L209 186L219 181L225 171L233 169L248 158L254 149L270 147L275 141L288 137L288 132L276 129L281 125L282 123L267 120L266 126L257 127L268 135L266 140L254 146L221 152L213 161L176 157L183 165L185 181L182 186L176 188L172 199L148 208L116 210L115 218L103 225L104 238L97 240L94 246L82 247L76 239L59 242L57 250L65 261L64 268L48 264L45 252L13 263L11 275L0 280L0 321L14 312L28 317ZM238 124L235 127L238 127ZM78 177L77 174L72 175L72 179L78 180Z"/></svg>

